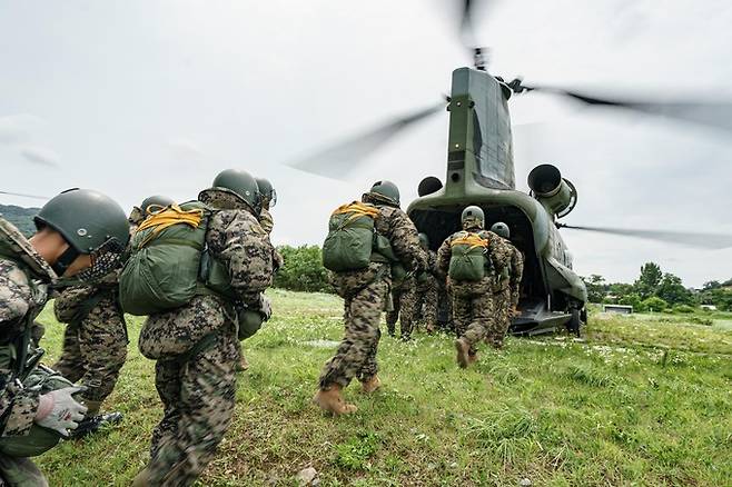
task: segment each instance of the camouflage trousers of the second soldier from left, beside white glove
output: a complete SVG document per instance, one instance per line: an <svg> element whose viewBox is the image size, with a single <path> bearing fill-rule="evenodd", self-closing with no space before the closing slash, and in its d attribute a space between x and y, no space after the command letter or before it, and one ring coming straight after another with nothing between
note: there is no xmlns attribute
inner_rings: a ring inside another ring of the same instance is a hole
<svg viewBox="0 0 732 487"><path fill-rule="evenodd" d="M111 394L127 359L127 326L111 298L106 298L80 322L69 324L63 351L53 369L87 387L83 398L102 401Z"/></svg>

